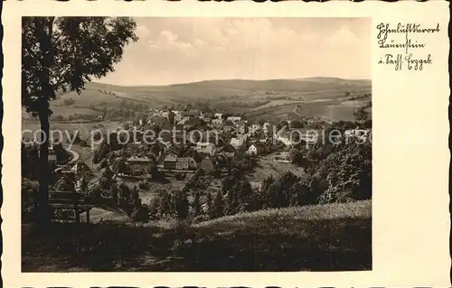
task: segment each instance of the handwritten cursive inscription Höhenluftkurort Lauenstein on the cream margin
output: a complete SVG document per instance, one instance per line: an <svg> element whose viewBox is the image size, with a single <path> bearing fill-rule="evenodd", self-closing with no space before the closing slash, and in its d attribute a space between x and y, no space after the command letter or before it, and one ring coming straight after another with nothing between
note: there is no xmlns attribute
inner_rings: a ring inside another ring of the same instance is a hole
<svg viewBox="0 0 452 288"><path fill-rule="evenodd" d="M425 65L433 63L431 53L421 53L428 47L427 43L415 38L419 34L439 33L439 23L432 27L424 27L420 23L397 23L393 26L390 23L380 23L377 29L378 47L384 51L379 64L391 65L396 71L403 70L404 67L420 71Z"/></svg>

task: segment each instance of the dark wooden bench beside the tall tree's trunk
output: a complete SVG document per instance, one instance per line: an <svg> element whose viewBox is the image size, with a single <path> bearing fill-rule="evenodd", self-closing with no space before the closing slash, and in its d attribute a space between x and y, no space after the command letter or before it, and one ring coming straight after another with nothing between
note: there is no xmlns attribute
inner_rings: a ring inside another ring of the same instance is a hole
<svg viewBox="0 0 452 288"><path fill-rule="evenodd" d="M27 199L29 202L35 202L35 197L32 195ZM83 200L83 195L81 193L74 191L56 191L49 190L49 206L52 209L67 209L73 210L75 214L76 223L80 223L80 214L86 212L86 222L89 223L89 210L96 207L94 204L87 203ZM59 218L53 218L53 220L58 220ZM68 219L64 219L68 220Z"/></svg>

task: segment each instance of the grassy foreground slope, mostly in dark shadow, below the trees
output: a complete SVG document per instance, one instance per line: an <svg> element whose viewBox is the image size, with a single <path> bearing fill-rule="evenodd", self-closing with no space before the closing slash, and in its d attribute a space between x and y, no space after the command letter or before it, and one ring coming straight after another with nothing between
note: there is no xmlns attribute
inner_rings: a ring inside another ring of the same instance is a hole
<svg viewBox="0 0 452 288"><path fill-rule="evenodd" d="M371 201L269 209L166 227L54 224L23 230L24 272L372 269ZM42 256L46 255L46 256Z"/></svg>

